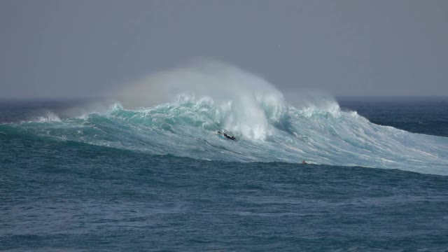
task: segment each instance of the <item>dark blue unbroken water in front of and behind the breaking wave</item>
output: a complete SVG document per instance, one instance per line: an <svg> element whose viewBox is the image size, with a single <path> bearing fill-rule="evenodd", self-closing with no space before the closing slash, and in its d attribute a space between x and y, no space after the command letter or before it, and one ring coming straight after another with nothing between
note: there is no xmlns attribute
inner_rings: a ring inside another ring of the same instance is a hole
<svg viewBox="0 0 448 252"><path fill-rule="evenodd" d="M70 106L0 109L2 251L448 250L448 176L149 155L52 137L52 122L19 123L52 111L64 124ZM447 137L447 103L341 106Z"/></svg>

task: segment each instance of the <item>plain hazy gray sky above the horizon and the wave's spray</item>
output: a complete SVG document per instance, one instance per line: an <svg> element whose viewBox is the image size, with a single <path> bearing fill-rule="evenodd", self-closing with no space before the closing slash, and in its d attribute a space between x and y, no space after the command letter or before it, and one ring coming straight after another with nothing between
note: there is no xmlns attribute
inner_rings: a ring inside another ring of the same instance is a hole
<svg viewBox="0 0 448 252"><path fill-rule="evenodd" d="M0 98L102 96L207 57L279 90L448 96L448 1L1 0Z"/></svg>

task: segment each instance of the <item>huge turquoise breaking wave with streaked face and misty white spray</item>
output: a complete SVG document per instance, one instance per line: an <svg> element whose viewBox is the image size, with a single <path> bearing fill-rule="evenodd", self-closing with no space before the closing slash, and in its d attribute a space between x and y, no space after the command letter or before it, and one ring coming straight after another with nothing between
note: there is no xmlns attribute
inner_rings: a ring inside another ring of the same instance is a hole
<svg viewBox="0 0 448 252"><path fill-rule="evenodd" d="M172 102L129 105L129 101L144 103L144 97L154 93ZM212 71L163 73L137 83L125 97L127 105L117 102L104 113L62 119L50 114L33 122L2 125L0 131L202 160L307 160L448 174L446 137L375 125L354 111L342 111L330 99L291 106L265 80L237 69L217 73L214 66ZM237 141L221 139L218 130L235 135Z"/></svg>

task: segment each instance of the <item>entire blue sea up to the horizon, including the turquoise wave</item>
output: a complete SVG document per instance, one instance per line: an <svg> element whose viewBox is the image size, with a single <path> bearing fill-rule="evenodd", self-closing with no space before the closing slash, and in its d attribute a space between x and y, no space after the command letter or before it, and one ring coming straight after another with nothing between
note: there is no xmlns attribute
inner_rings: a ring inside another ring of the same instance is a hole
<svg viewBox="0 0 448 252"><path fill-rule="evenodd" d="M1 102L0 250L448 251L448 99L269 101Z"/></svg>

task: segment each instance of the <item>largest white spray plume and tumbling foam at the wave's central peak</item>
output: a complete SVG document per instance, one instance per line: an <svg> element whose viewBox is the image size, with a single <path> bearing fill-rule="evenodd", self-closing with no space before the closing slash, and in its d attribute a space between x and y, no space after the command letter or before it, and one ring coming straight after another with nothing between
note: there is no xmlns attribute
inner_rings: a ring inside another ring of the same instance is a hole
<svg viewBox="0 0 448 252"><path fill-rule="evenodd" d="M218 62L158 73L120 94L126 108L197 99L207 99L219 108L218 124L223 128L251 139L271 134L269 121L276 120L285 107L283 94L266 80Z"/></svg>

